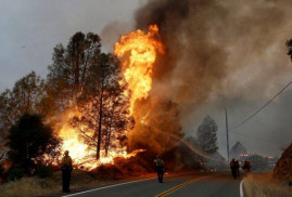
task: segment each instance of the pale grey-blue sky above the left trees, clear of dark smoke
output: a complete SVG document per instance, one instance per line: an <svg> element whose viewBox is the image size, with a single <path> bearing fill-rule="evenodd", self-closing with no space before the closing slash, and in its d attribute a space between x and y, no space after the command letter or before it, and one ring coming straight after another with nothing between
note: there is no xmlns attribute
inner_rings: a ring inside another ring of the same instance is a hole
<svg viewBox="0 0 292 197"><path fill-rule="evenodd" d="M0 0L0 92L31 70L45 77L55 44L115 21L132 24L141 0Z"/></svg>

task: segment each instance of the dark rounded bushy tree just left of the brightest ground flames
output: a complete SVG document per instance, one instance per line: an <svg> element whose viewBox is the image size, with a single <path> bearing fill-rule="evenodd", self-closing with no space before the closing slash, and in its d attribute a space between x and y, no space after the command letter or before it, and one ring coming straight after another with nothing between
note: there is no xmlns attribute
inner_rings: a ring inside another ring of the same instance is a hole
<svg viewBox="0 0 292 197"><path fill-rule="evenodd" d="M9 159L14 166L24 169L26 174L30 174L36 163L59 156L60 143L53 130L43 124L41 116L25 114L9 131Z"/></svg>

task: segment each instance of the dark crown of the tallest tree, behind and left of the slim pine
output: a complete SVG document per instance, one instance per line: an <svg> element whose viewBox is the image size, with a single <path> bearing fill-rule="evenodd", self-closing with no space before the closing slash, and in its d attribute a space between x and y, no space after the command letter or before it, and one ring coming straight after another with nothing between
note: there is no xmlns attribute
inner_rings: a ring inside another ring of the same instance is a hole
<svg viewBox="0 0 292 197"><path fill-rule="evenodd" d="M100 48L100 37L92 32L86 36L76 32L67 48L61 43L54 48L47 92L61 109L69 107L81 94L91 70L98 64Z"/></svg>

